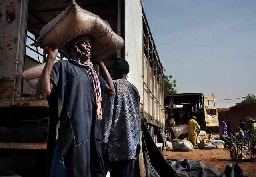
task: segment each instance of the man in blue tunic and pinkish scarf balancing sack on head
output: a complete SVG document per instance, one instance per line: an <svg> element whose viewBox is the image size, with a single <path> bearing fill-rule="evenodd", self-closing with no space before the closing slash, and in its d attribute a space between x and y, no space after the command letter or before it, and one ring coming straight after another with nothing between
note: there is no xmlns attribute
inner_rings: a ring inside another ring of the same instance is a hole
<svg viewBox="0 0 256 177"><path fill-rule="evenodd" d="M102 60L90 60L90 43L87 35L74 38L64 46L68 61L55 64L58 49L46 50L36 97L46 98L49 104L47 160L51 177L104 176L101 95L113 95L114 86ZM104 79L92 62L99 65Z"/></svg>

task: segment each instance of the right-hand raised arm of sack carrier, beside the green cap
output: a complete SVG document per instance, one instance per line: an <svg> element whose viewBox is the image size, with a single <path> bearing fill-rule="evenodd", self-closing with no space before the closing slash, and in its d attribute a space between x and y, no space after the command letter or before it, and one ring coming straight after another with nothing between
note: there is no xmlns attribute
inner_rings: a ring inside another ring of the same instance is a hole
<svg viewBox="0 0 256 177"><path fill-rule="evenodd" d="M104 65L102 60L100 60L99 58L92 58L92 62L94 64L98 64L102 74L102 78L104 78L104 80L106 80L107 82L105 93L107 93L108 95L114 95L115 94L114 84L106 66Z"/></svg>

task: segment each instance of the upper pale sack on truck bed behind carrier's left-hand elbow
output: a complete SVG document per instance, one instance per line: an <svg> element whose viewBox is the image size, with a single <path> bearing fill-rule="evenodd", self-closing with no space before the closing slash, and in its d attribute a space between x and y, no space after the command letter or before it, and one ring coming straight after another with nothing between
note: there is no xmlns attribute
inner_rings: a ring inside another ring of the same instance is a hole
<svg viewBox="0 0 256 177"><path fill-rule="evenodd" d="M56 62L57 61L55 61L54 63L56 63ZM32 66L31 68L28 68L21 74L22 78L24 78L26 81L34 79L34 78L39 78L44 69L44 65L45 65L45 63L41 63L38 65Z"/></svg>

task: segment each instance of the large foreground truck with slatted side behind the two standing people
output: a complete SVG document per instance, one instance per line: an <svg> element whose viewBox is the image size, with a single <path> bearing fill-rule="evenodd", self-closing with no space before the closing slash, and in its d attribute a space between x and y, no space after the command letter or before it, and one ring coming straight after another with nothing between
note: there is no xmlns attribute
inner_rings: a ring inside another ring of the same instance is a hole
<svg viewBox="0 0 256 177"><path fill-rule="evenodd" d="M37 100L21 73L46 61L42 48L30 46L41 28L68 7L70 0L5 0L0 4L0 161L1 169L21 176L44 176L48 103ZM104 58L110 69L117 57L130 64L128 80L140 94L141 119L155 144L165 151L163 66L140 0L77 0L107 20L124 39L121 50ZM93 55L93 54L92 54ZM59 52L57 60L66 60ZM140 175L145 175L140 153ZM7 173L7 172L6 172ZM12 174L5 174L12 175Z"/></svg>

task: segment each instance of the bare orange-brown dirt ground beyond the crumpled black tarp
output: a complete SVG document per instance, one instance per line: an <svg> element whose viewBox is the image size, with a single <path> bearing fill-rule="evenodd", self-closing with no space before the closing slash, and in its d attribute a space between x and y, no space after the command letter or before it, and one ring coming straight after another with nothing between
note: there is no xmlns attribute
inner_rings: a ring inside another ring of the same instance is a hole
<svg viewBox="0 0 256 177"><path fill-rule="evenodd" d="M244 174L246 176L256 177L256 162L249 161L232 161L230 159L230 153L227 149L199 149L198 147L194 148L192 152L178 152L178 151L170 151L166 152L164 156L166 159L189 159L189 160L199 160L204 165L212 165L217 169L224 171L226 165L237 162L240 167L242 167Z"/></svg>

